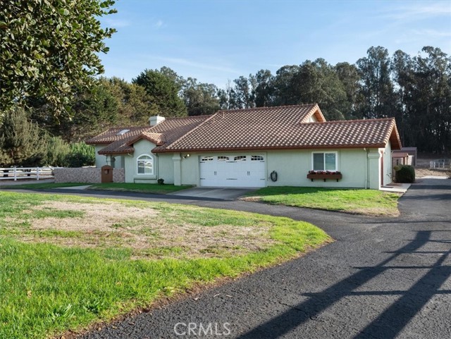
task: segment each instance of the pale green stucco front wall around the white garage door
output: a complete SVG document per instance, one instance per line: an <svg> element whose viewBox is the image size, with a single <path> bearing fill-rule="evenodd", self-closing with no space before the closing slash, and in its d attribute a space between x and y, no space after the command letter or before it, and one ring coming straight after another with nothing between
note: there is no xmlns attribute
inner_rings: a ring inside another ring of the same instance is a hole
<svg viewBox="0 0 451 339"><path fill-rule="evenodd" d="M385 149L308 149L308 150L278 150L264 152L202 152L152 154L155 147L152 142L140 140L133 147L135 153L123 156L125 182L156 183L163 178L165 183L175 185L199 185L199 156L214 156L218 154L263 154L266 156L267 186L307 186L307 187L361 187L378 189L381 185L381 153L384 156L384 185L390 183L391 147ZM307 173L312 169L313 152L337 152L338 171L343 178L336 180L307 179ZM138 175L136 159L141 154L154 156L154 174ZM116 158L117 159L117 158ZM117 164L117 160L116 160ZM180 170L179 170L180 168ZM278 173L278 180L269 179L271 172ZM178 174L180 173L180 174Z"/></svg>

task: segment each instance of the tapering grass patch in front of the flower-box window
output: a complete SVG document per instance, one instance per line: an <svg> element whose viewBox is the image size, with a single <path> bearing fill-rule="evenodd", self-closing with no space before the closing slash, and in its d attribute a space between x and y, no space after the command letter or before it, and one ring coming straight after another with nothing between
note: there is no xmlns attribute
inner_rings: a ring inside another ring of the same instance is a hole
<svg viewBox="0 0 451 339"><path fill-rule="evenodd" d="M264 187L245 199L310 209L352 214L397 216L400 195L379 190L330 189L320 187Z"/></svg>

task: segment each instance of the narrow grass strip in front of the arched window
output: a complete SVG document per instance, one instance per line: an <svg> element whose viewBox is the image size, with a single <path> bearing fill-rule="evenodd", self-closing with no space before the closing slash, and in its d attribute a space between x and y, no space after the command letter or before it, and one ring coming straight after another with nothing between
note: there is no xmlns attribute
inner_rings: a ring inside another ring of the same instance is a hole
<svg viewBox="0 0 451 339"><path fill-rule="evenodd" d="M152 193L155 195L166 195L168 193L185 190L192 186L175 186L171 184L135 184L135 183L103 183L94 184L88 190L105 190L105 191L125 191L125 192L142 192Z"/></svg>

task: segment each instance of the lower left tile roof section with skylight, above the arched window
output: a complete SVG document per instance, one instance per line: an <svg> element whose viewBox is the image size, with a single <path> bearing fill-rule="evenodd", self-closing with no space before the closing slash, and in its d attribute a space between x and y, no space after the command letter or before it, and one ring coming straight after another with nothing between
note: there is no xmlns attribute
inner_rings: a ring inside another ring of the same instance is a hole
<svg viewBox="0 0 451 339"><path fill-rule="evenodd" d="M188 131L204 122L209 116L192 116L167 118L156 126L110 128L96 137L87 140L87 144L107 144L99 154L128 154L135 149L133 144L138 140L149 140L156 144L156 149L164 149ZM121 131L128 130L123 134Z"/></svg>

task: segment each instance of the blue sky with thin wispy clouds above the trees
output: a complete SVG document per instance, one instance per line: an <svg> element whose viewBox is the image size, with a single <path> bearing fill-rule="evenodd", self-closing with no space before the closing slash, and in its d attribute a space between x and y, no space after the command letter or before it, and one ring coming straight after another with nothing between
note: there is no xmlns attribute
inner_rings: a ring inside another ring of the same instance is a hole
<svg viewBox="0 0 451 339"><path fill-rule="evenodd" d="M260 69L325 58L355 63L371 46L451 55L451 1L121 0L101 19L118 32L101 54L107 77L168 66L225 87Z"/></svg>

